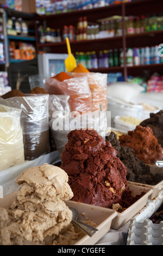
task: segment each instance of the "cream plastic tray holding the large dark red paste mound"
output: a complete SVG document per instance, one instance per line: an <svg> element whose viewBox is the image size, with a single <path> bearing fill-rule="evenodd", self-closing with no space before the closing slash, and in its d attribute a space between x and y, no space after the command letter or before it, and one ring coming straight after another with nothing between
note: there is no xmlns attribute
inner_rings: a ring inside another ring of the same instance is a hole
<svg viewBox="0 0 163 256"><path fill-rule="evenodd" d="M118 213L117 216L111 222L112 229L120 229L122 225L127 223L134 215L137 214L146 204L149 195L153 192L153 190L149 187L138 186L134 184L129 184L129 188L132 191L132 195L136 196L137 194L141 194L141 192L145 192L145 194L137 200L134 204L129 206L126 210L121 213Z"/></svg>

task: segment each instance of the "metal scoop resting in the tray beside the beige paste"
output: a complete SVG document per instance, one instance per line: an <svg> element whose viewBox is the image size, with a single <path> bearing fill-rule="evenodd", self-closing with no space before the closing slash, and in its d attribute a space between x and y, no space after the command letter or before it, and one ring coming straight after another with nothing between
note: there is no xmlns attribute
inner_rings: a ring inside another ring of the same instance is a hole
<svg viewBox="0 0 163 256"><path fill-rule="evenodd" d="M69 209L72 211L72 223L76 225L78 228L82 229L84 233L86 233L89 236L92 236L98 231L97 228L91 227L90 225L77 220L78 211L76 209L74 208L69 208Z"/></svg>

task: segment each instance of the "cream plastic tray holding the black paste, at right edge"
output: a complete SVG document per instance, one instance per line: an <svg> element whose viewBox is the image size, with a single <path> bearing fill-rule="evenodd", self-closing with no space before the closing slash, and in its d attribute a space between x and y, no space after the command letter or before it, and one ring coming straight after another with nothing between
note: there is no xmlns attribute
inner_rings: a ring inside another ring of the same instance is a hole
<svg viewBox="0 0 163 256"><path fill-rule="evenodd" d="M148 164L148 165L150 166L150 171L152 174L163 173L163 167L157 167L155 164L154 165ZM159 193L161 193L161 191L163 190L163 180L156 185L148 185L148 184L142 184L142 183L137 183L132 181L128 181L128 184L135 184L135 185L151 188L153 190L152 194L149 196L149 199L151 200L156 196L158 196Z"/></svg>

